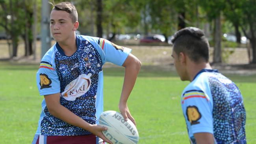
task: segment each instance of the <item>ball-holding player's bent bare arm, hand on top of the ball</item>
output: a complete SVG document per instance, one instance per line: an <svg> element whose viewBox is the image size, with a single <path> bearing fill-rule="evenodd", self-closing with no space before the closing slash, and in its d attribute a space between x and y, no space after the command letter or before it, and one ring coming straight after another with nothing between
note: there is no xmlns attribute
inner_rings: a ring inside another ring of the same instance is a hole
<svg viewBox="0 0 256 144"><path fill-rule="evenodd" d="M121 98L119 102L119 109L122 115L124 116L125 120L129 118L136 125L135 120L128 109L127 100L135 85L135 81L141 68L141 62L139 61L139 59L137 59L137 57L135 57L132 54L129 54L122 66L125 67L125 74Z"/></svg>

